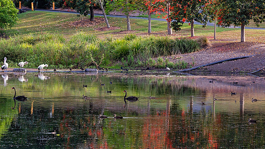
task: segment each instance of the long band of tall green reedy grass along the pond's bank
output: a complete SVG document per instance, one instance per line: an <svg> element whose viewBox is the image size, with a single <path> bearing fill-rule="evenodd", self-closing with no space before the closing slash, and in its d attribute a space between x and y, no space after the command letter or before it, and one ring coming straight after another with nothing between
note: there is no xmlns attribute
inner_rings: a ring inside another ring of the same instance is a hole
<svg viewBox="0 0 265 149"><path fill-rule="evenodd" d="M48 64L50 69L127 67L185 69L184 61L170 62L162 57L200 50L204 40L171 39L169 37L125 35L122 39L98 39L79 32L69 40L60 34L30 34L0 39L0 60L7 58L11 68L22 61L25 68Z"/></svg>

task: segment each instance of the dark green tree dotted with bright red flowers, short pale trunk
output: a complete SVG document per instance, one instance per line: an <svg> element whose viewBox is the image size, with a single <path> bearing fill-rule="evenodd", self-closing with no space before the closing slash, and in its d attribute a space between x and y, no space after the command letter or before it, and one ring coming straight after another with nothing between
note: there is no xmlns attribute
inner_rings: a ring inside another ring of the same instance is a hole
<svg viewBox="0 0 265 149"><path fill-rule="evenodd" d="M210 17L203 14L203 6L206 0L174 0L171 4L171 25L174 30L181 30L185 21L190 22L191 37L194 37L194 21L200 22L205 27Z"/></svg>

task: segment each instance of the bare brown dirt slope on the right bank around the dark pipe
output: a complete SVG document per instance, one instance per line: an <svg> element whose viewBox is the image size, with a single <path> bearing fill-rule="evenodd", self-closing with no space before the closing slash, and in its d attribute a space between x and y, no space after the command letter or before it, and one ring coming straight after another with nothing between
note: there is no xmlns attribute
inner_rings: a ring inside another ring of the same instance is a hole
<svg viewBox="0 0 265 149"><path fill-rule="evenodd" d="M212 47L190 54L179 54L167 57L169 61L185 61L193 67L209 64L230 58L253 56L246 59L227 61L203 67L197 72L211 73L250 73L265 67L265 44L257 42L212 43ZM172 59L174 57L175 59Z"/></svg>

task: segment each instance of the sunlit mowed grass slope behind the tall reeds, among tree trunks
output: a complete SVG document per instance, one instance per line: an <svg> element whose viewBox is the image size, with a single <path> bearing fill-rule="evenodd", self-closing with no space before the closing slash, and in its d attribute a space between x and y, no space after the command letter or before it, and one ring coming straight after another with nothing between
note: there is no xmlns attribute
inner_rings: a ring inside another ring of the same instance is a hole
<svg viewBox="0 0 265 149"><path fill-rule="evenodd" d="M99 17L99 16L95 16ZM153 16L154 17L154 16ZM156 16L157 17L157 16ZM83 31L94 34L99 38L115 37L121 38L125 34L147 35L148 20L145 19L130 19L132 32L121 32L127 30L126 18L108 17L110 26L120 27L116 30L98 31L97 28L106 27L106 23L91 26L91 27L75 27L68 24L72 21L89 19L86 17L78 17L76 14L70 13L57 13L46 11L27 11L18 15L19 22L11 29L6 30L6 34L13 35L26 35L37 33L59 33L67 39L77 32ZM152 34L155 36L167 35L167 22L166 21L151 21ZM264 23L262 24L264 25ZM261 26L262 26L261 25ZM191 26L185 23L180 31L174 31L172 37L190 37ZM207 36L213 38L213 26L202 28L201 25L195 25L195 36ZM222 28L217 27L217 39L229 39L230 41L240 41L239 28ZM246 29L246 41L265 41L265 30Z"/></svg>

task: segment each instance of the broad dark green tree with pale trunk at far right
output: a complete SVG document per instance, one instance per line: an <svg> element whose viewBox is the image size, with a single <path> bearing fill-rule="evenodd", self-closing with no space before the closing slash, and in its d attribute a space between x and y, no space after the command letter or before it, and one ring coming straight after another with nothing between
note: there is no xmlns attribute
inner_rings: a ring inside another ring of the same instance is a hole
<svg viewBox="0 0 265 149"><path fill-rule="evenodd" d="M265 20L264 0L221 0L218 24L241 26L241 42L245 42L245 26L253 20L257 26Z"/></svg>

